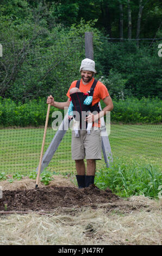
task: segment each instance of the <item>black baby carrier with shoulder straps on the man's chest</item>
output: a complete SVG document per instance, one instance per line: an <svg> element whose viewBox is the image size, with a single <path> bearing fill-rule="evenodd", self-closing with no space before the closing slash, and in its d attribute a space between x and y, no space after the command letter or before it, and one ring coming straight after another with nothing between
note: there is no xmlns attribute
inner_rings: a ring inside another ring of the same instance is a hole
<svg viewBox="0 0 162 256"><path fill-rule="evenodd" d="M70 95L71 101L73 103L73 111L78 112L77 115L74 115L74 118L77 121L80 120L80 128L82 128L82 121L84 121L84 120L82 120L82 116L84 116L84 119L85 119L85 117L88 115L88 113L86 115L83 115L82 114L83 111L84 111L84 113L88 112L88 111L90 111L91 113L94 111L96 111L96 112L100 111L99 106L98 106L99 102L97 102L94 106L92 106L92 103L90 103L90 105L84 105L84 100L86 99L86 97L94 95L94 89L96 87L97 82L98 82L97 80L94 81L90 90L87 93L78 92L78 93L73 93ZM80 86L80 80L78 80L76 83L76 87L78 89L79 89L79 86ZM86 125L87 125L87 123L86 123Z"/></svg>

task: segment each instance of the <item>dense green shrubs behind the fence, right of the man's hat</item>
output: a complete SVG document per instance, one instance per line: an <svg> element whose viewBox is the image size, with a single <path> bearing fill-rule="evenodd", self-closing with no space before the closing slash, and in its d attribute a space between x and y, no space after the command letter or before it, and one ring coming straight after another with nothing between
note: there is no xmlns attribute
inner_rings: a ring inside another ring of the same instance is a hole
<svg viewBox="0 0 162 256"><path fill-rule="evenodd" d="M162 97L162 59L158 56L157 44L141 43L138 47L133 41L102 41L102 47L95 48L95 59L110 95L114 96L122 89L124 96Z"/></svg>

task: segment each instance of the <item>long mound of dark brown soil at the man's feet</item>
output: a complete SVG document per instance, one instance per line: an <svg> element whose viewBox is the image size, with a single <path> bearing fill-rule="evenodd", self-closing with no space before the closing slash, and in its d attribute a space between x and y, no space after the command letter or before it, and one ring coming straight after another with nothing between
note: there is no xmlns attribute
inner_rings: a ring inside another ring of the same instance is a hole
<svg viewBox="0 0 162 256"><path fill-rule="evenodd" d="M95 185L88 188L39 187L32 190L3 191L0 211L50 211L58 207L94 206L115 203L119 200L108 188L99 190Z"/></svg>

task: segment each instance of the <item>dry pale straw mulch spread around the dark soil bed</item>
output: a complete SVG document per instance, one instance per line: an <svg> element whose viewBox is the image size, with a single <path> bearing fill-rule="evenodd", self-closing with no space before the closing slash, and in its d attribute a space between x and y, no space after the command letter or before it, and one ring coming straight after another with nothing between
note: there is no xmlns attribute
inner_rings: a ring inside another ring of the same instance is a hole
<svg viewBox="0 0 162 256"><path fill-rule="evenodd" d="M55 182L60 189L61 184L67 191L77 189L70 179L60 177ZM34 184L24 179L8 185L26 190ZM58 206L48 212L0 214L0 245L161 245L161 226L161 200L114 198L92 205Z"/></svg>

